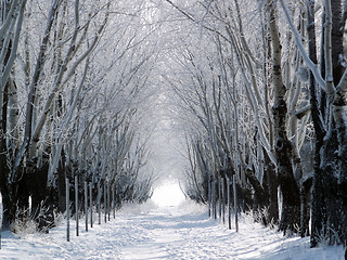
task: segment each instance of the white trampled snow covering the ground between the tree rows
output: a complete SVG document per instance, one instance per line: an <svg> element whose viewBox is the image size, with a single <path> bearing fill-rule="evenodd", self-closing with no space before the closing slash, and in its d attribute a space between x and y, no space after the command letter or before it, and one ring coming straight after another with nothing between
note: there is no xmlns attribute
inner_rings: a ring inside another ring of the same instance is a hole
<svg viewBox="0 0 347 260"><path fill-rule="evenodd" d="M240 232L207 217L206 208L185 202L156 207L128 206L115 219L75 236L62 222L49 234L2 233L0 259L268 259L339 260L343 247L309 248L309 238L283 237L243 216Z"/></svg>

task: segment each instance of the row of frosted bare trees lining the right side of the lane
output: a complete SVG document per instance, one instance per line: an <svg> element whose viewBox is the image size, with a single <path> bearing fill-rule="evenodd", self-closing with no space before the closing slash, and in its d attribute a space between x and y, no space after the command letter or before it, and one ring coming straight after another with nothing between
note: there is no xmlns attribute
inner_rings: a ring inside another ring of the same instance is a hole
<svg viewBox="0 0 347 260"><path fill-rule="evenodd" d="M166 81L188 118L188 195L234 176L243 210L346 244L344 1L166 3L185 21Z"/></svg>

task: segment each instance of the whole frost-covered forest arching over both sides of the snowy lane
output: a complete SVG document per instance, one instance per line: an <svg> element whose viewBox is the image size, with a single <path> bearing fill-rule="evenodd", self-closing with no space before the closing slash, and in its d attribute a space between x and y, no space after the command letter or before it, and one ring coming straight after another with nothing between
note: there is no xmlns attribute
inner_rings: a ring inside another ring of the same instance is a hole
<svg viewBox="0 0 347 260"><path fill-rule="evenodd" d="M3 227L48 231L74 190L105 210L143 203L171 170L214 216L228 200L312 247L347 244L346 1L0 11Z"/></svg>

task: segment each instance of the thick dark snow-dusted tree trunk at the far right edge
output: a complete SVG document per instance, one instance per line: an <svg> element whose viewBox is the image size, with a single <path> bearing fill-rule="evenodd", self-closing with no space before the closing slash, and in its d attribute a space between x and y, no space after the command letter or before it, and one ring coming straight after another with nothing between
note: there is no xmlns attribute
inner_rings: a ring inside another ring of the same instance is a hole
<svg viewBox="0 0 347 260"><path fill-rule="evenodd" d="M337 154L337 164L332 174L332 192L333 197L329 203L332 206L330 216L332 219L332 244L338 243L346 245L347 243L347 101L346 87L342 86L340 79L345 67L342 65L340 56L344 56L344 29L342 0L332 0L332 42L333 42L333 76L336 87L336 93L332 104L334 125L336 129L337 145L334 147L334 154ZM332 151L330 151L332 152ZM336 153L337 152L337 153ZM336 237L338 236L338 237Z"/></svg>

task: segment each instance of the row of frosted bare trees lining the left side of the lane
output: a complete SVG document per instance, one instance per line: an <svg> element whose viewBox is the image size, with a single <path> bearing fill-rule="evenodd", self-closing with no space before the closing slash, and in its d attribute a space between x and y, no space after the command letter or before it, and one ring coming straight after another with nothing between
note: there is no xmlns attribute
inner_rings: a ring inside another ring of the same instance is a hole
<svg viewBox="0 0 347 260"><path fill-rule="evenodd" d="M157 52L153 28L142 18L144 2L127 6L107 0L0 2L4 226L27 217L21 212L29 207L33 219L42 207L46 219L63 212L65 178L73 183L76 174L81 185L115 187L118 204L151 196L151 129L141 130Z"/></svg>

